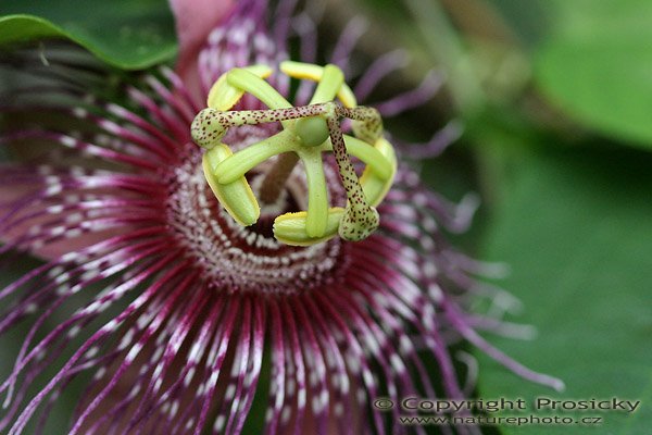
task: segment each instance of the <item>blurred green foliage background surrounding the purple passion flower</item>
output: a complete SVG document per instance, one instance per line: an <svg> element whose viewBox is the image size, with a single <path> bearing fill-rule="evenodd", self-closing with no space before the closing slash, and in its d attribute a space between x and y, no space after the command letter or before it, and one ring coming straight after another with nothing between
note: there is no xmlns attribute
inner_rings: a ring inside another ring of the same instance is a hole
<svg viewBox="0 0 652 435"><path fill-rule="evenodd" d="M174 58L166 8L162 0L3 1L2 15L37 17L0 18L0 44L65 37L114 66L146 67ZM528 341L488 338L567 386L562 394L538 387L477 352L478 397L641 400L635 413L551 414L601 417L599 426L488 432L650 433L652 2L331 0L325 8L325 41L363 15L369 59L399 47L412 54L404 83L418 84L432 67L446 72L430 105L390 126L424 139L432 132L414 128L424 120L463 123L459 142L422 163L423 174L451 199L480 192L474 229L460 243L510 265L497 284L525 307L511 320L538 330Z"/></svg>

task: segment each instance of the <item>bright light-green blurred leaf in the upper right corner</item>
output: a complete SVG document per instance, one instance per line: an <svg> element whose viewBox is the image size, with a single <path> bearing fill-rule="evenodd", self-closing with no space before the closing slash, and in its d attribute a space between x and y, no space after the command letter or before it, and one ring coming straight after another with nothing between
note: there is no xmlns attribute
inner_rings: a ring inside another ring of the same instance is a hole
<svg viewBox="0 0 652 435"><path fill-rule="evenodd" d="M652 147L652 2L551 0L535 57L550 101L602 134Z"/></svg>

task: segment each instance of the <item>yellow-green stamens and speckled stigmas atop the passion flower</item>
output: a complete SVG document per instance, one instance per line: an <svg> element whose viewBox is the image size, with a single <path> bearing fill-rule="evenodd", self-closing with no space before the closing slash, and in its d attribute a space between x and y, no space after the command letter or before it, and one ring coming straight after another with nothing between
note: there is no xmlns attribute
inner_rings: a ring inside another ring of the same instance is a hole
<svg viewBox="0 0 652 435"><path fill-rule="evenodd" d="M203 171L220 203L240 225L258 222L261 209L244 175L265 160L293 152L302 161L308 183L308 210L285 213L274 221L274 236L281 243L309 246L336 235L358 241L368 237L379 224L376 206L391 187L397 158L383 137L383 120L377 110L359 107L344 75L335 65L319 66L283 62L286 75L317 82L308 105L292 107L265 78L266 65L233 69L211 88L208 108L192 122L195 142L206 149ZM230 110L244 94L267 105L267 110ZM339 100L336 102L335 99ZM353 136L342 133L340 120L352 120ZM283 129L237 152L222 142L230 127L280 122ZM347 204L330 207L324 173L323 152L333 152ZM350 156L365 169L359 178Z"/></svg>

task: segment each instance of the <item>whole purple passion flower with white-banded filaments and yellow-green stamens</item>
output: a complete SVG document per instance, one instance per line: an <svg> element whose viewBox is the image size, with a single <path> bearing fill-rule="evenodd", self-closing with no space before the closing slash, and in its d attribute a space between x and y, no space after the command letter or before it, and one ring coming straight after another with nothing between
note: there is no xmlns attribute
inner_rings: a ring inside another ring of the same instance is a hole
<svg viewBox="0 0 652 435"><path fill-rule="evenodd" d="M162 67L115 85L68 49L47 67L9 54L46 79L3 107L20 122L1 141L45 150L3 165L2 265L48 259L0 290L0 332L30 322L0 386L0 430L41 432L91 373L70 434L238 434L265 394L269 434L408 432L372 402L463 398L448 350L460 337L561 386L476 333L501 327L466 312L481 268L440 229L463 229L473 207L424 187L383 130L381 114L429 90L362 108L338 67L288 63L291 3L275 37L266 2L234 7L179 58L198 79ZM339 47L343 66L351 44ZM394 58L369 67L359 97ZM290 104L284 71L318 82L312 98L300 89Z"/></svg>

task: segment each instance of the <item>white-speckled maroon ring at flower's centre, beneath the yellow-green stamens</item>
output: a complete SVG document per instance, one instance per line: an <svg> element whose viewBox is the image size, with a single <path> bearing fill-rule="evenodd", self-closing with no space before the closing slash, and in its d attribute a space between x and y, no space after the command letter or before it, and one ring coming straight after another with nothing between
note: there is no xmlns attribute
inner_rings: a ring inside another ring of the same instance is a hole
<svg viewBox="0 0 652 435"><path fill-rule="evenodd" d="M259 134L268 133L259 129ZM294 171L279 200L263 206L260 220L244 227L233 220L206 185L201 160L201 152L189 144L185 147L183 163L167 175L167 222L187 256L202 269L202 277L214 288L297 294L339 279L347 257L347 248L339 239L299 248L272 236L274 215L305 207L302 172ZM248 175L254 189L265 169L262 165L260 172L252 171ZM329 182L329 196L342 200L344 195L334 165L326 165L325 176Z"/></svg>

